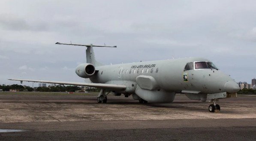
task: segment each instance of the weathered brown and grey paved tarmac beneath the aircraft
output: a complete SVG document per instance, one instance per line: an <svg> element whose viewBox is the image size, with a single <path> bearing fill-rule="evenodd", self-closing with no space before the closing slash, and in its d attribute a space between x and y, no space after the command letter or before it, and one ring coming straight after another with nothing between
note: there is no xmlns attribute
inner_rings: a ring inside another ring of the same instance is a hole
<svg viewBox="0 0 256 141"><path fill-rule="evenodd" d="M96 96L0 93L0 141L256 141L256 96L220 99L220 113L210 104L179 94L167 104L124 96L99 104Z"/></svg>

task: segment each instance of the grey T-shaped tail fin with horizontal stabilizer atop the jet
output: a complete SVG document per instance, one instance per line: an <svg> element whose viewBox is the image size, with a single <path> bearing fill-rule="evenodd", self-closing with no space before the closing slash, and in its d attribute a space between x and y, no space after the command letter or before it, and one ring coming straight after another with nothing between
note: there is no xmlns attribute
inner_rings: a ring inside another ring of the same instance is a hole
<svg viewBox="0 0 256 141"><path fill-rule="evenodd" d="M78 45L78 44L63 44L63 43L60 43L60 42L56 42L55 44L58 44L58 45ZM117 47L117 46L105 46L105 45L101 46L101 45L93 45L93 44L78 45L78 46L86 46L87 47L87 49L86 49L86 63L91 63L94 66L103 66L103 64L96 61L94 51L93 51L93 47L111 47L111 48L116 48Z"/></svg>

